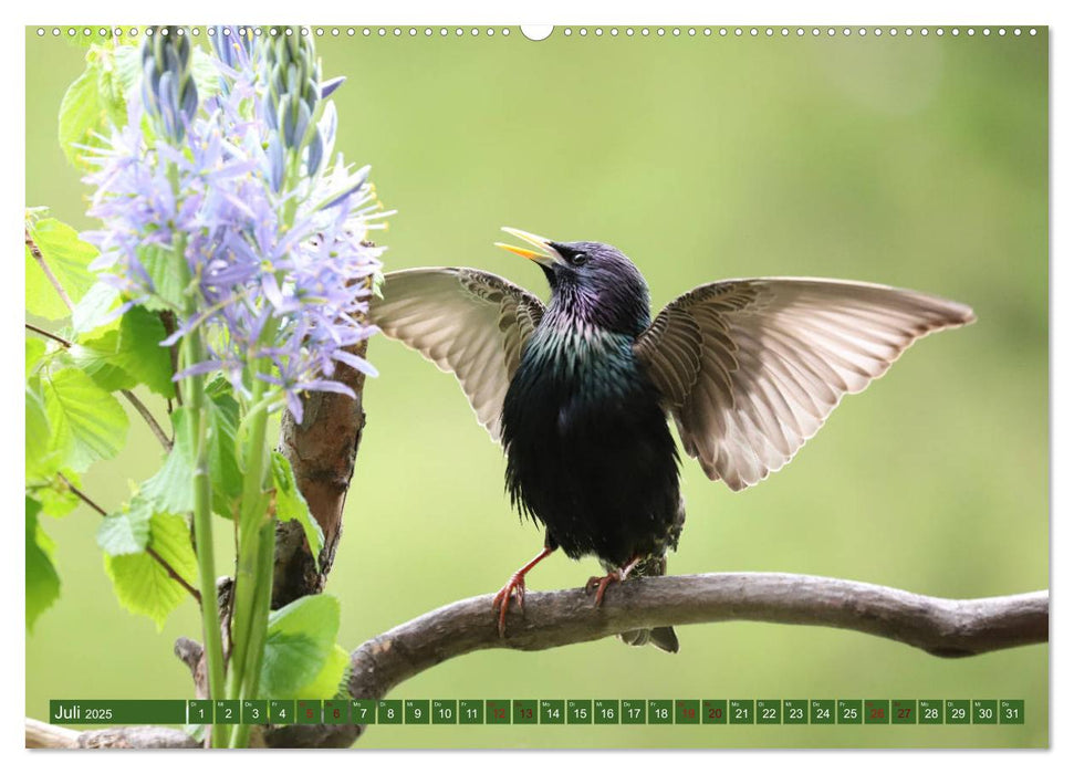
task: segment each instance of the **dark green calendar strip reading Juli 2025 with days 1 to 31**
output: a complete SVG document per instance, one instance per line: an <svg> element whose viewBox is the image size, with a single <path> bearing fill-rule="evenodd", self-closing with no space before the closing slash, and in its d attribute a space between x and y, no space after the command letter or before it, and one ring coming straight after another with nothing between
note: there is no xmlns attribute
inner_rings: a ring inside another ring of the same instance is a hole
<svg viewBox="0 0 1074 774"><path fill-rule="evenodd" d="M1023 699L52 700L65 725L1010 725Z"/></svg>

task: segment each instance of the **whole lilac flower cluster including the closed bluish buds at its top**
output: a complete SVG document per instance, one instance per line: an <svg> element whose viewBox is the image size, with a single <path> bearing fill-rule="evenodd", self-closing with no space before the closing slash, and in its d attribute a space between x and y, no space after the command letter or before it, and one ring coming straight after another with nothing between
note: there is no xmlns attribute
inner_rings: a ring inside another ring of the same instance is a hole
<svg viewBox="0 0 1074 774"><path fill-rule="evenodd" d="M350 391L338 364L375 374L348 348L376 331L364 321L383 248L367 238L389 213L367 167L331 160L335 111L295 38L218 30L222 87L201 104L186 36L147 41L142 100L91 156L102 228L84 237L125 301L176 314L164 344L201 331L207 356L188 374L222 374L240 395L271 385L301 421L303 393Z"/></svg>

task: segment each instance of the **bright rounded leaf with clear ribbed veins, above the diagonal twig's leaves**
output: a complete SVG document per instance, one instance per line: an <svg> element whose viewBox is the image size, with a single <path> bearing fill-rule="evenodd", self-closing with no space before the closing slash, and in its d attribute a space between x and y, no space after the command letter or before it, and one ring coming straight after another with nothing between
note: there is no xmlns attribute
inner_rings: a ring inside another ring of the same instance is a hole
<svg viewBox="0 0 1074 774"><path fill-rule="evenodd" d="M127 415L114 397L77 368L63 368L41 381L51 447L64 450L61 467L82 472L115 457L127 436Z"/></svg>

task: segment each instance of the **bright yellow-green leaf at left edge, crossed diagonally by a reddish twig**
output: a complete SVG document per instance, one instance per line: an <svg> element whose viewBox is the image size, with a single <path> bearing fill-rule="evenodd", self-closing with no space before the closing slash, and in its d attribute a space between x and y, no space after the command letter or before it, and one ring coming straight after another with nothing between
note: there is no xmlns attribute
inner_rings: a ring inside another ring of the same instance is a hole
<svg viewBox="0 0 1074 774"><path fill-rule="evenodd" d="M97 257L97 249L83 242L77 231L55 218L37 221L30 229L30 237L71 303L77 304L94 284L95 278L87 266ZM46 320L69 316L71 310L60 299L29 244L25 247L25 264L27 311Z"/></svg>

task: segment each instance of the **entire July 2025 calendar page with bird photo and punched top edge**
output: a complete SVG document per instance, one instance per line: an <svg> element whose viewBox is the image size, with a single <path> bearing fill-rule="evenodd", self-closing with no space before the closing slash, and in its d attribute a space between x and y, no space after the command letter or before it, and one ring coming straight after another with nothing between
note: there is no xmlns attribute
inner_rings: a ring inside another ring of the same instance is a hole
<svg viewBox="0 0 1074 774"><path fill-rule="evenodd" d="M1050 745L1046 25L25 57L27 746Z"/></svg>

